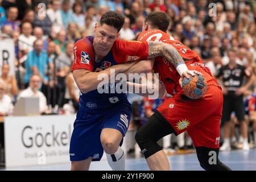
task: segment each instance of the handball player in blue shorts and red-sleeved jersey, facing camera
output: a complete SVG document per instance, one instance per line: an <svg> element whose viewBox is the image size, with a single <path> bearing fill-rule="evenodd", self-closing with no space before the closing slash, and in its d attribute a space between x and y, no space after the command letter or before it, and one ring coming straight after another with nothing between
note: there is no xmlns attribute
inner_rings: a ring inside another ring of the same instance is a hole
<svg viewBox="0 0 256 182"><path fill-rule="evenodd" d="M168 44L117 39L124 19L123 15L108 11L96 23L95 36L87 36L74 46L72 73L80 98L69 149L71 170L89 170L90 163L101 160L104 151L113 170L125 170L120 146L129 127L131 106L125 93L98 91L100 74L110 78L110 69L115 75L150 72L152 67L143 61L157 56L166 57L181 79L195 74L188 71L179 53Z"/></svg>

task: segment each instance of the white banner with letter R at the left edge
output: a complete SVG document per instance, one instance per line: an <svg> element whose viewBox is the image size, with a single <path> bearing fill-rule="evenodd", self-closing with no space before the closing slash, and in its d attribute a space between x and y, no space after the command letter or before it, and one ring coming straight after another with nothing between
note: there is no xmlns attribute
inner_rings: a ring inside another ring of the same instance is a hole
<svg viewBox="0 0 256 182"><path fill-rule="evenodd" d="M3 63L7 63L10 66L9 75L14 75L14 59L15 59L15 51L14 51L14 41L13 39L3 39L0 40L0 68ZM0 69L0 75L1 75Z"/></svg>

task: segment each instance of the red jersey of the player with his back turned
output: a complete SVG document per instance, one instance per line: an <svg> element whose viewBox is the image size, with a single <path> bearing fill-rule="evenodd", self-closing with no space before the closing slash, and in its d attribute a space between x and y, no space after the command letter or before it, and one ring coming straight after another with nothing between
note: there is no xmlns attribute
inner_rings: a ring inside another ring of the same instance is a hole
<svg viewBox="0 0 256 182"><path fill-rule="evenodd" d="M203 64L200 57L188 47L184 46L179 40L176 40L166 32L160 30L148 30L142 32L138 36L138 40L141 41L160 41L163 43L171 44L180 53L180 56L185 61L189 70L196 70L204 75L207 85L217 85L218 82L210 73L210 69ZM176 71L174 65L168 62L165 57L156 57L154 67L154 73L159 73L159 79L166 86L168 94L180 92L182 89L179 85L180 75Z"/></svg>

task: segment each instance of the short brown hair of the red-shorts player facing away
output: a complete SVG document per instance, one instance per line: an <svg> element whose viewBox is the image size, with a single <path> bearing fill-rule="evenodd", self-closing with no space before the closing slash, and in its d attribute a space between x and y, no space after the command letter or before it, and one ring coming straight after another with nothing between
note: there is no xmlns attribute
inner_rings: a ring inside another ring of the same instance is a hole
<svg viewBox="0 0 256 182"><path fill-rule="evenodd" d="M161 11L152 11L146 16L144 22L150 24L151 28L166 32L170 24L170 16Z"/></svg>

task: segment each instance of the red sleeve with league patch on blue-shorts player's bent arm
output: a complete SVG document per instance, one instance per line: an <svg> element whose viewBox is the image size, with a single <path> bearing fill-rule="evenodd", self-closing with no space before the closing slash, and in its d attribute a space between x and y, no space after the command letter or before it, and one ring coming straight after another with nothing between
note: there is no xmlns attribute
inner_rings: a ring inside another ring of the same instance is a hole
<svg viewBox="0 0 256 182"><path fill-rule="evenodd" d="M93 71L94 53L93 46L88 38L80 39L75 43L74 61L71 71L75 69L87 69Z"/></svg>

